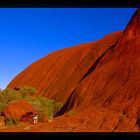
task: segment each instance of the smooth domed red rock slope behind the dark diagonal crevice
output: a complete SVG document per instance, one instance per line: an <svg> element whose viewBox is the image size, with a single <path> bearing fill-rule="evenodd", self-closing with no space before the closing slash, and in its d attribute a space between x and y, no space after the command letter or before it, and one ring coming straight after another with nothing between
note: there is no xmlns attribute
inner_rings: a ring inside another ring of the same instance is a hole
<svg viewBox="0 0 140 140"><path fill-rule="evenodd" d="M8 87L32 86L39 94L65 103L88 69L120 35L112 33L97 42L54 52L30 65Z"/></svg>

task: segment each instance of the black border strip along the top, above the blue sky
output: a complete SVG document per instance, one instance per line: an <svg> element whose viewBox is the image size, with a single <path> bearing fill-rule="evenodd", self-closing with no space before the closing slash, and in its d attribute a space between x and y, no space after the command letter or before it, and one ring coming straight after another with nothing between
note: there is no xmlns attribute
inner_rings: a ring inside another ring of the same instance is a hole
<svg viewBox="0 0 140 140"><path fill-rule="evenodd" d="M0 8L140 7L140 0L2 0Z"/></svg>

